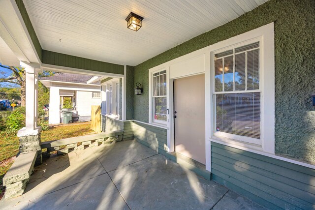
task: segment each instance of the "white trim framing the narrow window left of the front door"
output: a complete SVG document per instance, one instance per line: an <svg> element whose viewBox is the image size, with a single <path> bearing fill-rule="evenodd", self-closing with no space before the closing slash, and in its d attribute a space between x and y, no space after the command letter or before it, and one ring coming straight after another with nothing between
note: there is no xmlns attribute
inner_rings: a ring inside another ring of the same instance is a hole
<svg viewBox="0 0 315 210"><path fill-rule="evenodd" d="M153 74L165 71L166 70L166 107L168 113L166 114L166 121L163 120L155 120L153 119ZM158 70L150 69L149 70L149 123L155 124L159 126L167 126L169 127L169 69L161 68Z"/></svg>

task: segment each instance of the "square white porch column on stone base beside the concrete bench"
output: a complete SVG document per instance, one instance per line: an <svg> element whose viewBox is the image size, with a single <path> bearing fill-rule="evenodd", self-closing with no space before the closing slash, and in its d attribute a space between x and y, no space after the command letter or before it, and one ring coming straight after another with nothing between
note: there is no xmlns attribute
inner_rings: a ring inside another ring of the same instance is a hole
<svg viewBox="0 0 315 210"><path fill-rule="evenodd" d="M40 147L41 127L37 126L37 104L38 104L38 72L40 64L21 61L20 65L26 71L26 119L25 127L18 131L20 139L20 152L37 150L35 165L40 165L42 161Z"/></svg>

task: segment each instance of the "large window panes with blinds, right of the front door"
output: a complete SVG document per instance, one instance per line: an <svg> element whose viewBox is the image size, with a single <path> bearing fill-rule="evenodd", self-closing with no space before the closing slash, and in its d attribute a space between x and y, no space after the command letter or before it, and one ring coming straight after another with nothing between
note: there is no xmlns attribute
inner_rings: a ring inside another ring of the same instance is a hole
<svg viewBox="0 0 315 210"><path fill-rule="evenodd" d="M215 54L217 132L260 139L259 42Z"/></svg>

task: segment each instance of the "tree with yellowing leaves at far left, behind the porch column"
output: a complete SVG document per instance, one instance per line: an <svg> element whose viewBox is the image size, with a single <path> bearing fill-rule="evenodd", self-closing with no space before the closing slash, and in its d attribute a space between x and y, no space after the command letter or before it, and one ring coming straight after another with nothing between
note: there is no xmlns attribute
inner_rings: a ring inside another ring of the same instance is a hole
<svg viewBox="0 0 315 210"><path fill-rule="evenodd" d="M6 78L0 78L0 82L7 82L12 84L17 84L21 86L21 106L25 106L25 96L26 96L26 80L25 80L25 70L22 67L6 66L0 63L0 67L10 69L12 74ZM2 74L5 75L5 74Z"/></svg>

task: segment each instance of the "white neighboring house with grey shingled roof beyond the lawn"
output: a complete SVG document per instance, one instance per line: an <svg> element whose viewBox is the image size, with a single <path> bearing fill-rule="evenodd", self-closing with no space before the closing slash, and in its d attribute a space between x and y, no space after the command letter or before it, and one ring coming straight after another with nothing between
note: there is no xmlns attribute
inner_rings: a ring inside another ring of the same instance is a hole
<svg viewBox="0 0 315 210"><path fill-rule="evenodd" d="M100 82L98 78L80 74L57 74L40 78L40 82L50 88L49 124L63 122L62 109L70 103L73 121L90 121L91 106L100 105Z"/></svg>

